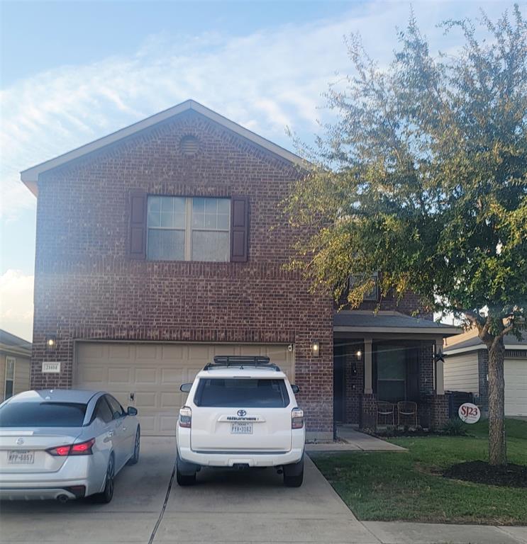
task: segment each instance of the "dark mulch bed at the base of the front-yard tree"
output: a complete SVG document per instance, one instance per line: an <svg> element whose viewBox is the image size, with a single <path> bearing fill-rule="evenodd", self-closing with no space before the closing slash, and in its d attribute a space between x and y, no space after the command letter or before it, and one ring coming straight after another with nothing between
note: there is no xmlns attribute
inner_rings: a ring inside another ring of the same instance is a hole
<svg viewBox="0 0 527 544"><path fill-rule="evenodd" d="M494 467L484 461L459 463L445 470L443 476L477 484L527 487L527 466L513 463L506 467Z"/></svg>

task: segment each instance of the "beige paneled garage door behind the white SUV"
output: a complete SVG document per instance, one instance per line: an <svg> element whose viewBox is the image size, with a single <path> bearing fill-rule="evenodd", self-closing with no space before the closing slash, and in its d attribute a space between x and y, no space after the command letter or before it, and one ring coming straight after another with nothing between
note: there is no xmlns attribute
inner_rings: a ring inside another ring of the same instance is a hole
<svg viewBox="0 0 527 544"><path fill-rule="evenodd" d="M111 392L124 407L139 411L144 435L174 433L192 382L215 355L264 355L294 382L294 353L282 344L77 344L74 386Z"/></svg>

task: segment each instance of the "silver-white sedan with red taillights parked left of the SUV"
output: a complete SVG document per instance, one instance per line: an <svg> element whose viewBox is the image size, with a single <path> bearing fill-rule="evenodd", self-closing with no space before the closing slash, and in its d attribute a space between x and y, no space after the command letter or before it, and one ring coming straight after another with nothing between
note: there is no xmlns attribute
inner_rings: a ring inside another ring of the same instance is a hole
<svg viewBox="0 0 527 544"><path fill-rule="evenodd" d="M117 472L139 460L136 415L101 391L26 391L4 401L0 499L110 502Z"/></svg>

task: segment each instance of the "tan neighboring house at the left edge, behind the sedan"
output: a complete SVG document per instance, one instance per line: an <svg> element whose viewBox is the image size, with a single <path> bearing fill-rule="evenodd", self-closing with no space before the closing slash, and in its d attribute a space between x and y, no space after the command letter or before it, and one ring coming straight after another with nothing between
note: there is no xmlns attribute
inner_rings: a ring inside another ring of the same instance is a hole
<svg viewBox="0 0 527 544"><path fill-rule="evenodd" d="M29 389L31 343L0 329L0 402Z"/></svg>

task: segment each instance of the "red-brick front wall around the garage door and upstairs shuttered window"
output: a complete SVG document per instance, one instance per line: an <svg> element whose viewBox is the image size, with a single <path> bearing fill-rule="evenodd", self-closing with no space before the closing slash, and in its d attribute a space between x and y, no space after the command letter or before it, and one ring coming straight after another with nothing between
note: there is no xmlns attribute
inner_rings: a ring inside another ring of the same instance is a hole
<svg viewBox="0 0 527 544"><path fill-rule="evenodd" d="M199 152L179 150L185 135ZM279 203L299 176L289 163L187 112L48 171L38 182L31 384L72 384L75 339L294 343L308 429L331 431L333 302L284 263L292 232ZM128 191L247 196L246 263L130 261ZM57 351L45 351L46 334ZM314 358L311 341L321 354ZM42 375L42 361L61 361Z"/></svg>

